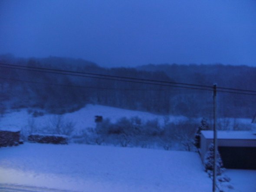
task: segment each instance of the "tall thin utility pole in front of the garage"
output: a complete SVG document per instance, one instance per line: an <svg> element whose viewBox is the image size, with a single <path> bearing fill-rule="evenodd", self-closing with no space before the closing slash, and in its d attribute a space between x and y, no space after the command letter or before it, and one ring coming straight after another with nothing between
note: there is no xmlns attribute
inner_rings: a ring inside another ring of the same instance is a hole
<svg viewBox="0 0 256 192"><path fill-rule="evenodd" d="M213 145L214 145L214 161L213 161L213 192L216 191L216 176L217 176L217 85L213 85L213 104L214 104L214 129L213 129Z"/></svg>

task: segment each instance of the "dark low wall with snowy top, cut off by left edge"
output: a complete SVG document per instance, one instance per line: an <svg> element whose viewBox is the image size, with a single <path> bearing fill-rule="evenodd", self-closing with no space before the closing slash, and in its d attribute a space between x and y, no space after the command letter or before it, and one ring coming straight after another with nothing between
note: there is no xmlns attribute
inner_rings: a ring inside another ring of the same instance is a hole
<svg viewBox="0 0 256 192"><path fill-rule="evenodd" d="M0 130L0 147L17 146L22 143L20 141L20 131Z"/></svg>

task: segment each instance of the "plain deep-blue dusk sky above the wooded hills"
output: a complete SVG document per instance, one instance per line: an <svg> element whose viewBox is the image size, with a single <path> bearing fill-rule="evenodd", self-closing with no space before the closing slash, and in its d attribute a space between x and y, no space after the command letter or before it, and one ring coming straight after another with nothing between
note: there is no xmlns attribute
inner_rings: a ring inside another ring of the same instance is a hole
<svg viewBox="0 0 256 192"><path fill-rule="evenodd" d="M0 0L0 54L256 67L256 0Z"/></svg>

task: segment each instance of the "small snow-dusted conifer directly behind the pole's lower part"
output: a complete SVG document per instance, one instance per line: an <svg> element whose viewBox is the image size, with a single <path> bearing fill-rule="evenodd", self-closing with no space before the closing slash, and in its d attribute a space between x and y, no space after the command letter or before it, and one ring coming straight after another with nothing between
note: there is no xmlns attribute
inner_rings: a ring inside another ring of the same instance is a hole
<svg viewBox="0 0 256 192"><path fill-rule="evenodd" d="M214 146L213 143L210 144L207 153L204 156L204 168L210 176L213 175L213 163L214 163ZM217 176L220 176L224 171L222 159L219 151L217 150Z"/></svg>

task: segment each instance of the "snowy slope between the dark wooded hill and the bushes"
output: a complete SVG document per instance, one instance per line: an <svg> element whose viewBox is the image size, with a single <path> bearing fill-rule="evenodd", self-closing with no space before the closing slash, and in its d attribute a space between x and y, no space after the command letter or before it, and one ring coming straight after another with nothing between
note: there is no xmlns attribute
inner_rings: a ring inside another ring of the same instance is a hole
<svg viewBox="0 0 256 192"><path fill-rule="evenodd" d="M173 122L175 124L187 119L187 117L184 116L163 116L143 111L133 111L93 104L87 104L79 111L63 114L62 117L63 120L72 121L75 123L75 130L82 130L87 127L93 128L96 126L94 121L96 115L102 116L103 119L109 118L112 122L115 122L122 117L139 117L141 118L142 122L158 119L160 126L164 124L164 119L166 118L169 122ZM53 114L45 114L40 117L33 117L32 114L28 114L27 109L12 111L0 118L0 130L10 130L13 128L23 129L28 127L29 121L31 120L34 121L34 124L38 129L44 129L44 127L49 126L49 123L55 117L56 115Z"/></svg>

